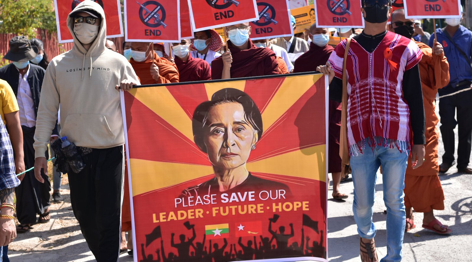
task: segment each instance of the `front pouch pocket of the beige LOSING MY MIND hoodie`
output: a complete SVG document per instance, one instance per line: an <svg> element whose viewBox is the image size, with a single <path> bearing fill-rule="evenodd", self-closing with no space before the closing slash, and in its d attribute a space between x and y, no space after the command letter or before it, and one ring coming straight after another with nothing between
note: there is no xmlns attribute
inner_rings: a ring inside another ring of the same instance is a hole
<svg viewBox="0 0 472 262"><path fill-rule="evenodd" d="M105 115L71 114L61 125L61 133L77 146L105 147L115 139Z"/></svg>

